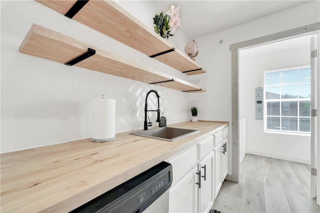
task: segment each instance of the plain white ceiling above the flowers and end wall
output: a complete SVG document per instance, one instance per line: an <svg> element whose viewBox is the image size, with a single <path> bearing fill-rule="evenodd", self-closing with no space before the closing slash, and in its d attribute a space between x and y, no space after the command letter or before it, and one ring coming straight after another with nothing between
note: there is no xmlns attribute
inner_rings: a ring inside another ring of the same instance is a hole
<svg viewBox="0 0 320 213"><path fill-rule="evenodd" d="M195 39L311 0L153 0L166 12L180 6L180 29Z"/></svg>

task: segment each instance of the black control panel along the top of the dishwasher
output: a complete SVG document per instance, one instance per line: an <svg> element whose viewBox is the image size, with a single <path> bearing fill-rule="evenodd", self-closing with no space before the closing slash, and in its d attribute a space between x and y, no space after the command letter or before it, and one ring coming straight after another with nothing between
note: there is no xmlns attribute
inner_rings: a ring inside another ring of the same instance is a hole
<svg viewBox="0 0 320 213"><path fill-rule="evenodd" d="M172 183L172 165L160 162L71 212L142 212Z"/></svg>

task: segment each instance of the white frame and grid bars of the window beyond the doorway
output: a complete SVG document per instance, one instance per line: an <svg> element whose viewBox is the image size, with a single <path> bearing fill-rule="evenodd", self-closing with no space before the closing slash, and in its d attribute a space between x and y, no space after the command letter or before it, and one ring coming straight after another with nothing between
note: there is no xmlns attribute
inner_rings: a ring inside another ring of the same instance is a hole
<svg viewBox="0 0 320 213"><path fill-rule="evenodd" d="M310 118L311 120L311 115L309 117L306 116L300 116L299 115L299 102L300 101L310 101L311 102L311 97L308 98L300 98L299 96L297 96L297 98L282 98L281 96L281 78L280 78L280 83L278 84L280 87L280 94L279 94L279 98L278 99L266 99L266 77L265 74L266 73L270 73L270 72L278 72L280 71L287 71L287 70L293 70L293 69L303 69L303 68L310 68L310 64L304 64L304 65L295 65L295 66L287 66L287 67L282 67L282 68L271 68L271 69L264 69L263 70L263 130L265 133L279 133L279 134L291 134L291 135L305 135L305 136L310 136L310 131L306 132L306 131L299 131L299 118ZM298 75L298 73L297 73ZM311 82L310 82L311 83ZM299 91L299 85L303 85L303 84L310 84L310 83L305 83L305 82L301 82L299 83L297 81L297 93ZM282 102L286 102L286 101L297 101L297 116L283 116L281 113L282 110ZM267 102L279 102L279 115L267 115ZM311 110L310 110L311 111ZM279 117L280 119L280 129L267 129L267 117ZM297 128L298 130L283 130L281 129L281 122L283 117L296 117L297 118ZM311 129L310 129L311 130Z"/></svg>

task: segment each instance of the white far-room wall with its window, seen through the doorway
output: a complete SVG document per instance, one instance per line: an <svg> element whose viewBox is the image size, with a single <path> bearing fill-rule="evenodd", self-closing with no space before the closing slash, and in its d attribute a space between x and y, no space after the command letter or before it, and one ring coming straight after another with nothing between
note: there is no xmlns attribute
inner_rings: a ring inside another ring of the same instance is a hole
<svg viewBox="0 0 320 213"><path fill-rule="evenodd" d="M310 164L310 35L239 49L238 76L240 162L249 153Z"/></svg>

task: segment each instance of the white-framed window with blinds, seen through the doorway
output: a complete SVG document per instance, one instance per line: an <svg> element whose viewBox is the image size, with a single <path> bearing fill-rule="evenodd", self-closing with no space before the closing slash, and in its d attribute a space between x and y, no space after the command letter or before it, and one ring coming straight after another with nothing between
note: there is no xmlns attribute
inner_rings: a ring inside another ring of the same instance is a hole
<svg viewBox="0 0 320 213"><path fill-rule="evenodd" d="M310 66L264 71L264 131L310 133Z"/></svg>

